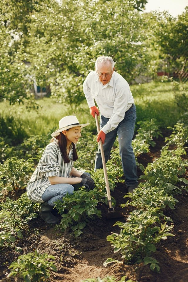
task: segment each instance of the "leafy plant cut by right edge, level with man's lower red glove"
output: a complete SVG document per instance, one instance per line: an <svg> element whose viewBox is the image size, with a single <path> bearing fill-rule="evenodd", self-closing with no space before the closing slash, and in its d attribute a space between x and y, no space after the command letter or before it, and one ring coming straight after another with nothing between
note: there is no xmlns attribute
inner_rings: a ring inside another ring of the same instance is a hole
<svg viewBox="0 0 188 282"><path fill-rule="evenodd" d="M173 130L170 137L165 138L167 145L175 144L178 148L183 148L188 143L188 127L183 123L177 122L174 127L167 127Z"/></svg>

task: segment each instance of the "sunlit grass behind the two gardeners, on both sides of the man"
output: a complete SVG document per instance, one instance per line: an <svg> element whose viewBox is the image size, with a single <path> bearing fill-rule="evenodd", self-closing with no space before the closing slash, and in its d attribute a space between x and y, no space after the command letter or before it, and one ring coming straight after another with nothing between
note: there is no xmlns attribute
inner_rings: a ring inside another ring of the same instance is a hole
<svg viewBox="0 0 188 282"><path fill-rule="evenodd" d="M137 108L137 122L155 118L157 123L164 128L174 126L178 121L180 113L175 103L171 82L131 85L131 91ZM178 93L181 94L181 91ZM27 136L53 132L58 128L59 120L66 115L76 115L81 123L90 122L85 130L91 134L96 133L95 120L90 115L86 100L81 105L75 105L74 112L70 105L56 103L51 98L37 100L37 103L41 106L38 112L36 110L29 112L26 105L9 105L7 101L2 102L0 103L0 117L9 120L8 127L16 129L17 136L19 136L19 127Z"/></svg>

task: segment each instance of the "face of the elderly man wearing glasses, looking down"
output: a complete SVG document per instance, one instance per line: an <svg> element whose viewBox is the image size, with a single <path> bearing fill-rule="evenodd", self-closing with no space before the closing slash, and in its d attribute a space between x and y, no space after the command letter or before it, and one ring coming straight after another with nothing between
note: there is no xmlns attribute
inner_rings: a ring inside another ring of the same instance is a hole
<svg viewBox="0 0 188 282"><path fill-rule="evenodd" d="M110 81L112 74L114 72L114 69L115 68L113 68L112 70L112 65L109 62L98 64L97 74L98 74L100 82L102 82L103 85L106 85Z"/></svg>

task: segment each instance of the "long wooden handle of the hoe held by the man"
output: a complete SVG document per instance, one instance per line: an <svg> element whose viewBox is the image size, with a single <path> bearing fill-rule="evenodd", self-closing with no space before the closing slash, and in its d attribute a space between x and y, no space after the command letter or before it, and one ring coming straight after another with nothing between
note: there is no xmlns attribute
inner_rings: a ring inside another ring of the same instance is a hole
<svg viewBox="0 0 188 282"><path fill-rule="evenodd" d="M98 117L97 117L96 113L95 113L95 122L96 122L96 126L97 126L97 132L99 133L100 128L99 128L99 122L98 122ZM107 174L107 170L106 170L105 155L104 155L103 143L102 143L101 139L99 140L99 146L100 146L100 153L101 153L101 157L102 157L103 170L104 170L104 176L105 176L108 205L109 205L109 208L111 208L112 207L112 200L111 200L111 196L110 196L110 187L109 187L109 182L108 182L108 174Z"/></svg>

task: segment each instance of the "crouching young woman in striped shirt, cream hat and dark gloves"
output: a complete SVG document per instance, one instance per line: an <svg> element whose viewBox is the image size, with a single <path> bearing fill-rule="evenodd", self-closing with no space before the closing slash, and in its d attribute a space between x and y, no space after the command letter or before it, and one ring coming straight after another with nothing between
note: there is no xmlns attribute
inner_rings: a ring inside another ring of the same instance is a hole
<svg viewBox="0 0 188 282"><path fill-rule="evenodd" d="M67 193L73 194L74 184L79 183L88 189L95 187L89 174L73 167L78 159L75 144L81 137L81 128L88 124L80 124L73 115L63 117L59 121L59 129L51 134L54 138L46 146L27 184L28 198L32 202L43 203L39 215L46 223L59 223L59 219L51 213L54 202L62 201Z"/></svg>

